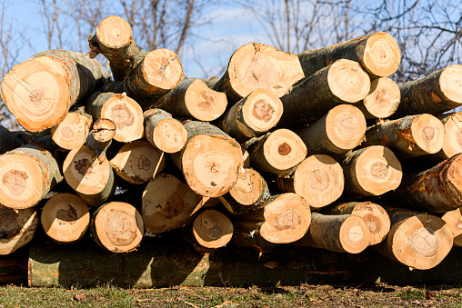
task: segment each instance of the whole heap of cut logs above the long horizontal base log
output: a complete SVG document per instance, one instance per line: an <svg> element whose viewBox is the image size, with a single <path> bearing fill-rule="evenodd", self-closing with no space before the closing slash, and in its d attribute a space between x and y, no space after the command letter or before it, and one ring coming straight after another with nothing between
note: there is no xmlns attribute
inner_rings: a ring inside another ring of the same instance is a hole
<svg viewBox="0 0 462 308"><path fill-rule="evenodd" d="M25 131L0 128L0 254L38 217L56 243L89 233L111 253L181 230L201 253L372 246L430 269L462 245L462 114L442 114L462 105L462 65L395 84L399 48L377 33L299 55L247 44L203 81L118 16L89 45L3 79Z"/></svg>

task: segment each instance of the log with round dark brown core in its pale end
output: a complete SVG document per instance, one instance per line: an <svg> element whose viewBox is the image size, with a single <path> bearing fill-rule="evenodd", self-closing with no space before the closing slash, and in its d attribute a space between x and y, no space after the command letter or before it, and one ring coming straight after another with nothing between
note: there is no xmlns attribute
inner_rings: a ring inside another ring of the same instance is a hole
<svg viewBox="0 0 462 308"><path fill-rule="evenodd" d="M306 157L306 145L294 132L278 129L244 144L252 166L273 174L292 174Z"/></svg>

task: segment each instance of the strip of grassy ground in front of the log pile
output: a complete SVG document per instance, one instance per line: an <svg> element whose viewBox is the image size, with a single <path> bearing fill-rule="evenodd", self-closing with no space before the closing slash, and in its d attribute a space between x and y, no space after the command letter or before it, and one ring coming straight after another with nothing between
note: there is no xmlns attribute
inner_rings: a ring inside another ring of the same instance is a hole
<svg viewBox="0 0 462 308"><path fill-rule="evenodd" d="M455 286L309 285L273 288L174 287L89 289L0 287L7 307L462 307Z"/></svg>

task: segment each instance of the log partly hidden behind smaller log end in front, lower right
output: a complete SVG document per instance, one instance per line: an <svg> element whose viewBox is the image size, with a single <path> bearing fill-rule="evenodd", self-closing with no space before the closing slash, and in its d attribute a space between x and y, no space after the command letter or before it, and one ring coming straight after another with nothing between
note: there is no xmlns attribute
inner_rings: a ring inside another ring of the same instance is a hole
<svg viewBox="0 0 462 308"><path fill-rule="evenodd" d="M323 214L352 214L361 217L370 232L369 246L382 242L390 231L390 217L387 211L378 204L371 202L336 203L325 208ZM323 209L324 210L324 209Z"/></svg>

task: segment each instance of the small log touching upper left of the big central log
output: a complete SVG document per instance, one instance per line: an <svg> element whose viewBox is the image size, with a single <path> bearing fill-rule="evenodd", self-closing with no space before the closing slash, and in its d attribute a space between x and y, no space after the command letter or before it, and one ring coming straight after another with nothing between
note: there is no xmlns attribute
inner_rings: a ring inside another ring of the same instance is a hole
<svg viewBox="0 0 462 308"><path fill-rule="evenodd" d="M186 144L185 126L162 109L145 112L145 137L150 144L166 153L181 151Z"/></svg>

